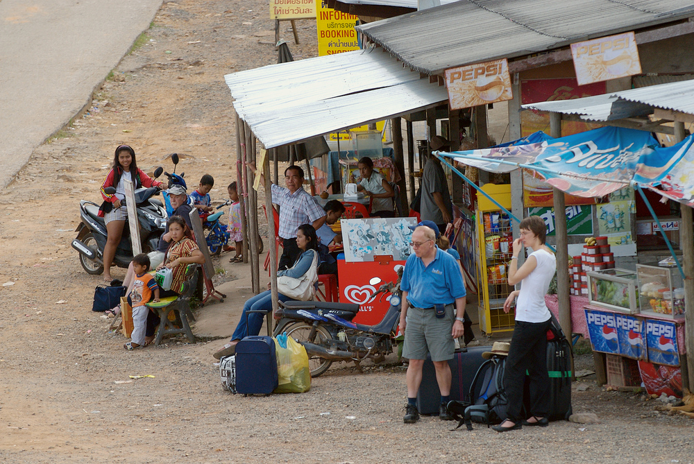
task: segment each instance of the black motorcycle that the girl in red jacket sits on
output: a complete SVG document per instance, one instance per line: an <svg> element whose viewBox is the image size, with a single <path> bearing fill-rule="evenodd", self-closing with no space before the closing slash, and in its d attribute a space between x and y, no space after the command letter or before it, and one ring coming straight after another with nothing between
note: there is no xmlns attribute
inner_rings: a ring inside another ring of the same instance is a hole
<svg viewBox="0 0 694 464"><path fill-rule="evenodd" d="M154 178L162 175L163 171L161 167L158 167L154 171ZM108 194L115 194L116 189L107 187L105 191ZM167 225L168 215L164 209L164 204L161 200L152 198L159 191L158 187L143 187L135 190L143 252L157 249L159 237L164 233ZM72 241L72 248L79 252L80 264L87 273L101 274L103 273L103 248L108 233L103 218L99 217L99 205L91 201L81 200L80 218L81 222L75 230L77 238ZM133 247L130 245L130 227L126 225L113 257L113 263L120 268L127 268L132 259Z"/></svg>

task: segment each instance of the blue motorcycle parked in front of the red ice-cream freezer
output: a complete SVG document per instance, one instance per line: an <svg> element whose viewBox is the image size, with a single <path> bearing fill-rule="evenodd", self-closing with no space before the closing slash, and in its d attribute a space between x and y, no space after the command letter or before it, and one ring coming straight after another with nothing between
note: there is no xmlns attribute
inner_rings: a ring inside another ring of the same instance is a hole
<svg viewBox="0 0 694 464"><path fill-rule="evenodd" d="M357 368L363 359L382 361L393 352L393 339L400 323L400 279L403 270L398 270L398 280L382 284L371 295L373 302L378 294L390 303L388 311L377 325L362 325L352 322L359 312L359 304L320 301L280 302L275 314L279 319L273 336L287 332L301 343L309 356L311 377L323 374L334 361L354 361ZM369 282L378 285L380 278Z"/></svg>

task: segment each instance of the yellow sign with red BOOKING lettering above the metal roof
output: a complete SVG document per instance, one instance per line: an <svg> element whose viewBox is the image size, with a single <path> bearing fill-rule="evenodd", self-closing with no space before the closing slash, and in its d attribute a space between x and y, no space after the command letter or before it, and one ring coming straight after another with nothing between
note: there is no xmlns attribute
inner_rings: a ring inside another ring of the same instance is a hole
<svg viewBox="0 0 694 464"><path fill-rule="evenodd" d="M359 50L357 17L328 8L328 1L316 0L316 28L318 29L318 55L335 55Z"/></svg>

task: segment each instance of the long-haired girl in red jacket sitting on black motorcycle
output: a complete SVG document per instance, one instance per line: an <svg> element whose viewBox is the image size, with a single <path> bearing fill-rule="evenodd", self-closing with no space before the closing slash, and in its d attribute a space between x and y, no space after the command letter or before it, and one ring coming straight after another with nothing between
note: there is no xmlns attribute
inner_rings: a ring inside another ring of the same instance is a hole
<svg viewBox="0 0 694 464"><path fill-rule="evenodd" d="M111 264L116 254L116 248L123 235L123 227L128 218L126 207L121 205L125 197L124 181L130 180L135 184L135 189L140 187L158 187L162 182L153 180L146 175L135 162L135 150L128 145L119 145L113 157L113 167L101 184L101 196L103 203L99 208L99 216L103 216L106 223L108 239L103 247L103 280L111 281ZM106 187L115 187L116 193L109 195L103 191Z"/></svg>

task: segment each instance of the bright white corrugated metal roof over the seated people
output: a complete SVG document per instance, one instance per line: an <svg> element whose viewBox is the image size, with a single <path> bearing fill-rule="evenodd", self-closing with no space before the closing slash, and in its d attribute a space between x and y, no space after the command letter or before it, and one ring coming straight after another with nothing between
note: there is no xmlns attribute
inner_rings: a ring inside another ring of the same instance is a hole
<svg viewBox="0 0 694 464"><path fill-rule="evenodd" d="M266 148L407 114L448 100L382 51L351 51L224 76L234 108Z"/></svg>

